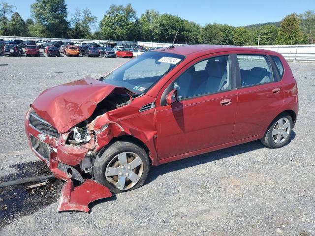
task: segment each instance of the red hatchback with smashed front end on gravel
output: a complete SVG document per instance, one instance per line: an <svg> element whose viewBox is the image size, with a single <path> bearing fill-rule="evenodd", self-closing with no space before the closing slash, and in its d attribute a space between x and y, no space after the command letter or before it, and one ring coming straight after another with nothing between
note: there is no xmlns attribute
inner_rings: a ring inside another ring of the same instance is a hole
<svg viewBox="0 0 315 236"><path fill-rule="evenodd" d="M56 177L92 179L118 193L143 185L151 165L258 139L283 147L297 118L297 93L279 53L176 46L97 80L44 90L25 129Z"/></svg>

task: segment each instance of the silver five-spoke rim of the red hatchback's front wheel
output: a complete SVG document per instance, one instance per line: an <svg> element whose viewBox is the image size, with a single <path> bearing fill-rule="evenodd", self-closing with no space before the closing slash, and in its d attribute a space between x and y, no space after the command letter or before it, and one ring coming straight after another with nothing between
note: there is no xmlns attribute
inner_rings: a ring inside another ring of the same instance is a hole
<svg viewBox="0 0 315 236"><path fill-rule="evenodd" d="M114 156L105 170L107 181L125 191L136 185L143 174L143 162L133 152L122 152Z"/></svg>

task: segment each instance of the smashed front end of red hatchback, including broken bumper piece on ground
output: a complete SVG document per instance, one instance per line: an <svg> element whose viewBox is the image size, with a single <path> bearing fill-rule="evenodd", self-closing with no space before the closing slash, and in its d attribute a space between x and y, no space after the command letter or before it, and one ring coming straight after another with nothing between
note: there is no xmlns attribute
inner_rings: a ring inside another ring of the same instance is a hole
<svg viewBox="0 0 315 236"><path fill-rule="evenodd" d="M109 119L97 129L94 125L130 104L131 94L88 77L47 89L31 105L25 118L29 146L57 178L67 181L59 211L88 212L90 202L111 197L108 188L93 180L93 164L99 150L124 132Z"/></svg>

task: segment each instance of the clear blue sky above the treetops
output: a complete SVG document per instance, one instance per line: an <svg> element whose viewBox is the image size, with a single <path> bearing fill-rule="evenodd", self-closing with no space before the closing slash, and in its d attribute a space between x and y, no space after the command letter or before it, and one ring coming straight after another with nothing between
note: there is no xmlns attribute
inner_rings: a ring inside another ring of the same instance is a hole
<svg viewBox="0 0 315 236"><path fill-rule="evenodd" d="M35 0L4 0L15 5L24 20L31 17ZM315 10L315 0L66 0L70 14L75 8L89 8L100 21L111 4L131 3L140 17L146 9L177 15L201 26L207 23L247 26L281 21L291 13ZM15 7L14 7L15 10Z"/></svg>

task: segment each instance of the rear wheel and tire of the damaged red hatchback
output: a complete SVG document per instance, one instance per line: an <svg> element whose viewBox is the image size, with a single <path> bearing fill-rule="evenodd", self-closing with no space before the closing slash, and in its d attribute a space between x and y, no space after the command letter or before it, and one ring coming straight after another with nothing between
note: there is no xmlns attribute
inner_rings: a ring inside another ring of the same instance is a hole
<svg viewBox="0 0 315 236"><path fill-rule="evenodd" d="M282 148L290 140L293 120L287 113L280 114L269 126L261 143L269 148Z"/></svg>

